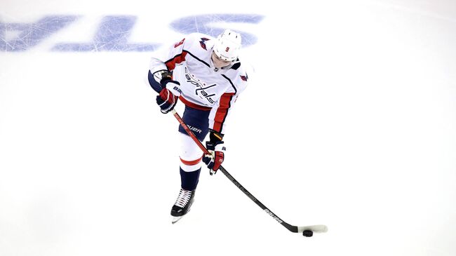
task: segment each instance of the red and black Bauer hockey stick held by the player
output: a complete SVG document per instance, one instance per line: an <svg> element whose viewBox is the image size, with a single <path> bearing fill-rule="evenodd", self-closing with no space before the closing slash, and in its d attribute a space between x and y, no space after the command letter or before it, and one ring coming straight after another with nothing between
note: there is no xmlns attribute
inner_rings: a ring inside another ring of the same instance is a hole
<svg viewBox="0 0 456 256"><path fill-rule="evenodd" d="M198 147L203 151L204 154L210 154L208 149L206 149L206 147L203 146L203 144L196 138L196 136L193 134L192 130L190 130L187 125L184 123L184 121L182 120L182 118L179 116L179 114L177 114L177 112L175 111L175 109L171 110L171 112L173 113L173 115L175 116L175 118L177 119L177 121L179 121L180 123L180 126L182 126L182 128L185 129L185 131L188 133L188 135L190 137L192 137L192 139L194 140L194 142L198 145ZM262 208L262 210L264 210L269 216L271 216L274 220L276 220L277 222L279 222L280 224L282 224L283 227L286 227L286 229L288 229L289 231L292 231L294 233L302 233L302 235L304 236L312 236L315 233L323 233L323 232L326 232L328 231L328 227L326 227L325 225L314 225L314 226L302 226L302 227L297 227L297 226L293 226L291 224L288 224L287 222L284 222L283 220L281 220L281 218L279 218L279 216L275 215L274 213L272 213L271 210L269 210L266 206L264 206L264 204L262 204L257 198L255 198L255 196L253 196L253 194L250 194L249 191L247 191L247 189L245 189L241 183L239 183L236 179L234 179L234 177L232 175L230 175L227 170L225 170L225 168L223 168L223 166L220 166L219 170L225 175L227 176L228 180L231 180L235 185L236 187L238 187L241 191L243 191L244 194L246 194L246 196L248 196L248 198L250 198L250 200L254 201L257 206L260 206L260 208Z"/></svg>

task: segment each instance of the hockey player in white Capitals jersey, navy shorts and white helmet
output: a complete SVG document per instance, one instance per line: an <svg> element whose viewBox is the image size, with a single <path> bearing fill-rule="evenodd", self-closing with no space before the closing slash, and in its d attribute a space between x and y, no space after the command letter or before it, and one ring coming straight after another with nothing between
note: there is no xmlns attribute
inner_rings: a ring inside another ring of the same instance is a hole
<svg viewBox="0 0 456 256"><path fill-rule="evenodd" d="M241 34L226 29L217 39L206 34L189 34L170 47L166 56L150 62L149 84L159 95L156 103L166 114L177 100L185 104L183 121L203 142L209 133L203 152L192 138L179 127L181 189L171 215L173 223L188 213L194 201L201 172L201 160L217 172L223 163L223 136L227 117L239 94L246 88L248 75L239 60Z"/></svg>

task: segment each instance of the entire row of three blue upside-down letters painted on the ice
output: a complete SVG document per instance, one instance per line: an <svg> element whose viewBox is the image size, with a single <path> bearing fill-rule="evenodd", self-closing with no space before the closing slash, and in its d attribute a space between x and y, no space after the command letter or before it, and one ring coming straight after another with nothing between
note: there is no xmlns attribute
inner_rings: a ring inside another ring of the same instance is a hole
<svg viewBox="0 0 456 256"><path fill-rule="evenodd" d="M72 24L79 17L76 15L50 15L32 23L0 22L0 50L24 51L32 48L56 32ZM171 22L170 27L182 34L201 32L217 36L224 27L217 22L241 22L257 24L262 21L262 15L248 14L210 14L180 18ZM159 43L132 43L128 38L132 32L136 16L110 15L102 18L92 41L84 43L56 43L51 50L64 52L87 51L154 51ZM255 35L241 32L243 46L252 45L257 41Z"/></svg>

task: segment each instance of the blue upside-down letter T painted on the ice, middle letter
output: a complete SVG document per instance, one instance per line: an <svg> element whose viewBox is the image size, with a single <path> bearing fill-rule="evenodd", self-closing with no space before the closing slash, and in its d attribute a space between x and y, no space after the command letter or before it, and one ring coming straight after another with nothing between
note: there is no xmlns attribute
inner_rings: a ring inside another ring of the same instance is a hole
<svg viewBox="0 0 456 256"><path fill-rule="evenodd" d="M128 43L128 37L135 25L135 16L106 16L93 41L87 43L58 43L53 50L58 51L153 51L156 43Z"/></svg>

